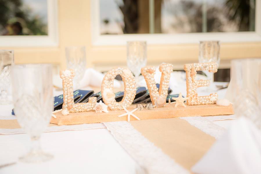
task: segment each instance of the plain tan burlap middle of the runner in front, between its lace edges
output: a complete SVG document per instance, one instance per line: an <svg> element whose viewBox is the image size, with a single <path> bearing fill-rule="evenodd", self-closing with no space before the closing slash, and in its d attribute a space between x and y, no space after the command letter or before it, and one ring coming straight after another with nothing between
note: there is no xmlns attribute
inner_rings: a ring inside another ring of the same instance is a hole
<svg viewBox="0 0 261 174"><path fill-rule="evenodd" d="M189 171L215 142L214 137L180 118L131 121L131 124Z"/></svg>

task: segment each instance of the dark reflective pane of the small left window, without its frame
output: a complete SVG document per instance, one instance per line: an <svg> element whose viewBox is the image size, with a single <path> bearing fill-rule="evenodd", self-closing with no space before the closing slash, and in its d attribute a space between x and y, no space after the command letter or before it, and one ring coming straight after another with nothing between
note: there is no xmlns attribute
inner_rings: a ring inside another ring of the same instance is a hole
<svg viewBox="0 0 261 174"><path fill-rule="evenodd" d="M0 1L0 35L48 35L46 0Z"/></svg>

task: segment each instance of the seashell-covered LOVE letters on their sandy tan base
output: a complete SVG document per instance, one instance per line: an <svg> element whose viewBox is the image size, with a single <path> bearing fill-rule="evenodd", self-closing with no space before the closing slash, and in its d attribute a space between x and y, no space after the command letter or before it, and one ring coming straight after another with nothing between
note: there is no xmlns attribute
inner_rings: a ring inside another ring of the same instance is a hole
<svg viewBox="0 0 261 174"><path fill-rule="evenodd" d="M129 69L120 67L112 68L105 74L101 84L101 94L104 103L101 101L97 103L96 97L90 97L88 103L76 104L73 100L74 70L61 70L60 77L62 78L64 103L62 111L53 113L56 118L52 117L51 123L68 125L124 121L127 119L129 121L136 120L136 118L142 120L180 116L227 115L234 113L231 104L229 106L218 106L215 104L218 99L216 93L208 96L197 95L197 88L209 85L209 81L195 79L197 71L208 70L210 72L216 72L217 65L213 62L185 64L187 96L182 97L180 93L179 97L174 98L174 100L179 99L178 104L172 104L174 102L166 104L169 80L171 72L173 71L172 68L172 64L166 63L159 66L161 72L159 89L156 87L154 79L156 72L155 67L146 66L141 68L141 74L144 76L152 101L151 109L142 110L137 110L135 109L136 106L132 105L136 95L136 81ZM113 92L113 81L116 75L120 75L124 82L124 96L120 102L116 102ZM182 102L185 100L187 100L186 104ZM129 111L127 108L133 110ZM134 115L135 117L129 117L130 115Z"/></svg>

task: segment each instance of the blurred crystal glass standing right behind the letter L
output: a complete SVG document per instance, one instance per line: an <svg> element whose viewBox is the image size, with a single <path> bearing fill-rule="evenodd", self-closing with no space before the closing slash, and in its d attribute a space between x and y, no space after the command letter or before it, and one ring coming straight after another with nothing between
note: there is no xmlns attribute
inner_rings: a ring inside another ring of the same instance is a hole
<svg viewBox="0 0 261 174"><path fill-rule="evenodd" d="M80 81L85 73L86 53L85 46L70 46L65 48L67 69L74 69L75 88L79 87Z"/></svg>

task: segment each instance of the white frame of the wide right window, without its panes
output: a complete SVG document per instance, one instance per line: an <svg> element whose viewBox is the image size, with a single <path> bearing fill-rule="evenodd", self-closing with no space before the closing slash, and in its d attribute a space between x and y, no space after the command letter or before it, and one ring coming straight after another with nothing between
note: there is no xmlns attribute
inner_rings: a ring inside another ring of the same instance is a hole
<svg viewBox="0 0 261 174"><path fill-rule="evenodd" d="M208 32L180 34L100 34L100 1L91 0L91 38L93 46L126 45L127 41L144 40L148 44L194 44L199 40L219 40L221 42L261 41L261 1L255 6L254 32Z"/></svg>

